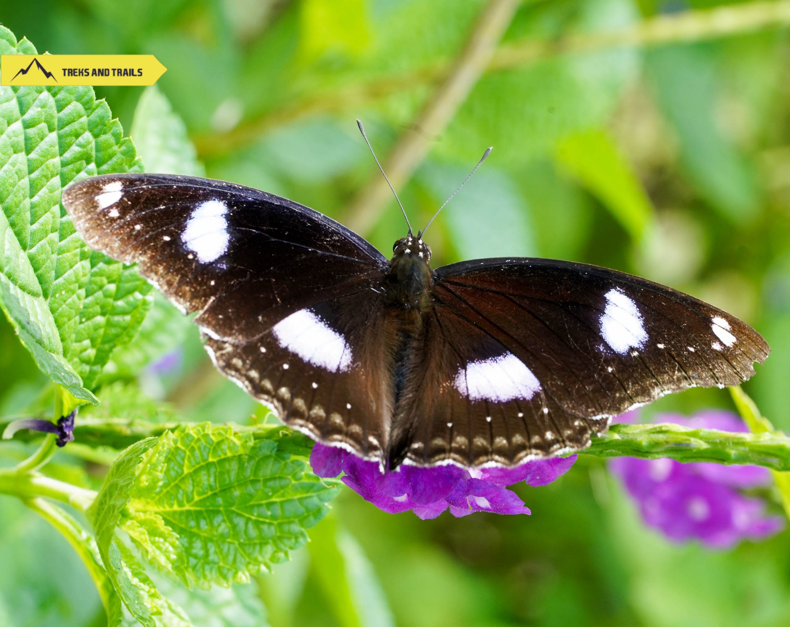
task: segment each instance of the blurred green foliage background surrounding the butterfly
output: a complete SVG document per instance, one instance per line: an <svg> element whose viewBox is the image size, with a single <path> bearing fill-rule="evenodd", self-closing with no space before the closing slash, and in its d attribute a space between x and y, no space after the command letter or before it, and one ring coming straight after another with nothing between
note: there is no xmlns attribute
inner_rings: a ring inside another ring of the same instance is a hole
<svg viewBox="0 0 790 627"><path fill-rule="evenodd" d="M437 97L487 4L42 0L3 2L0 22L39 51L156 54L167 66L158 87L206 175L353 223L349 208L379 176L355 118L386 160ZM766 336L773 353L747 389L790 430L790 41L777 25L790 21L790 6L719 6L521 3L457 111L419 129L430 150L401 200L423 225L494 145L431 227L434 266L559 257L712 302ZM717 28L725 32L713 36ZM96 92L137 139L142 89ZM397 205L364 212L372 226L363 235L389 254L404 235ZM157 312L167 315L163 303ZM167 334L182 343L180 359L116 373L96 411L149 417L150 398L175 419L264 415L216 374L194 329L171 322ZM28 411L46 381L5 320L0 342L0 415ZM644 415L729 402L724 391L692 390ZM86 484L102 474L65 454L56 461ZM262 625L264 611L273 627L790 624L787 533L724 553L672 545L642 526L604 464L584 456L559 482L520 494L530 517L423 522L346 490L310 546L273 574L231 593L174 595L198 608L198 627ZM0 501L0 565L0 625L103 624L76 555L9 497Z"/></svg>

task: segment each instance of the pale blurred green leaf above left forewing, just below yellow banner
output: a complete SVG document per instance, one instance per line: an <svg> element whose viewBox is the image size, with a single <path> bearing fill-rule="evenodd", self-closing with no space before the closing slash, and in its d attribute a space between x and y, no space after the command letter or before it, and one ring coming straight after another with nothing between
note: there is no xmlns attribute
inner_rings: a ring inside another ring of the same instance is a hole
<svg viewBox="0 0 790 627"><path fill-rule="evenodd" d="M145 88L140 96L130 136L146 172L205 176L186 125L156 85Z"/></svg>

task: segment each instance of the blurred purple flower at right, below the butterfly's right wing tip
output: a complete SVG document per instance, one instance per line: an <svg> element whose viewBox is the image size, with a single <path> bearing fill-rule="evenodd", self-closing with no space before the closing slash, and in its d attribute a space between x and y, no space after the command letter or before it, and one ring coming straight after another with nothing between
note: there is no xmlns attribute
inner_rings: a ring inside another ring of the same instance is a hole
<svg viewBox="0 0 790 627"><path fill-rule="evenodd" d="M659 414L656 422L747 431L741 419L728 411L702 411L691 418ZM760 499L738 491L769 485L771 475L766 468L633 457L618 457L609 467L638 502L645 524L675 542L699 539L711 548L727 548L742 539L765 538L784 528L780 516L765 515Z"/></svg>

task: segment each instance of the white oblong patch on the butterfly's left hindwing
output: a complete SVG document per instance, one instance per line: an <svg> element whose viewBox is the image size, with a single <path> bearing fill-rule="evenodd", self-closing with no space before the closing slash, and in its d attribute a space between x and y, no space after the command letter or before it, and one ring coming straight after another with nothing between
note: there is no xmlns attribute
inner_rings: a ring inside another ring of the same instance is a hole
<svg viewBox="0 0 790 627"><path fill-rule="evenodd" d="M272 332L281 347L313 366L329 372L344 372L351 366L351 347L344 337L310 310L291 314L274 325Z"/></svg>

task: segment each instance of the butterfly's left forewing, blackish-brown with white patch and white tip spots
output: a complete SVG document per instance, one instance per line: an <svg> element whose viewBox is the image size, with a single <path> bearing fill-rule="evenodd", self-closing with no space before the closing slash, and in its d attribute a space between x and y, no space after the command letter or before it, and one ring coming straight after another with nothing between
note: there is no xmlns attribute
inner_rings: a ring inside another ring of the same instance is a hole
<svg viewBox="0 0 790 627"><path fill-rule="evenodd" d="M380 283L386 259L310 208L232 183L106 175L64 192L90 246L140 265L201 329L249 339L326 298Z"/></svg>

